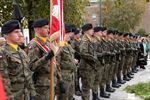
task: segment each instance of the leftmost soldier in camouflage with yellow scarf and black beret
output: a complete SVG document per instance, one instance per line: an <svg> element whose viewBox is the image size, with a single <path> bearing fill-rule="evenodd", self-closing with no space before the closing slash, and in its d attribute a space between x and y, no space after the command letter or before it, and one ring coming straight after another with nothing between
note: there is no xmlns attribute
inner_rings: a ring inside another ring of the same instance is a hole
<svg viewBox="0 0 150 100"><path fill-rule="evenodd" d="M0 73L3 77L8 100L35 100L35 88L29 59L19 48L20 23L11 20L2 26L7 43L0 49Z"/></svg>

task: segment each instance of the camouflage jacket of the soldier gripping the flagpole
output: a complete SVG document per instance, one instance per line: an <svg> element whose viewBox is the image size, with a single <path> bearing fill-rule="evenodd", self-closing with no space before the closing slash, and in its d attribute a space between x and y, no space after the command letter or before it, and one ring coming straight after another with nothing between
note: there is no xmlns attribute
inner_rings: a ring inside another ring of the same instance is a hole
<svg viewBox="0 0 150 100"><path fill-rule="evenodd" d="M50 49L49 42L43 43L37 38L42 45L46 45ZM34 72L34 83L36 86L50 85L50 60L45 59L47 53L34 41L30 41L28 45L29 67Z"/></svg>

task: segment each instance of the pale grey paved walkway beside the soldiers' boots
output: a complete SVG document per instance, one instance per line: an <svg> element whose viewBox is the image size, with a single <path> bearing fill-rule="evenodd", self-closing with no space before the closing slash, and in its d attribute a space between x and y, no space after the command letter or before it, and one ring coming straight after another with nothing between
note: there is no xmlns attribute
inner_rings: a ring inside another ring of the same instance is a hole
<svg viewBox="0 0 150 100"><path fill-rule="evenodd" d="M150 60L145 70L140 69L138 73L134 75L134 78L122 85L114 93L111 94L109 99L101 98L102 100L143 100L140 97L135 96L134 94L127 93L123 89L128 85L134 85L140 82L149 82L150 81ZM75 96L75 100L82 100L81 97ZM92 100L92 99L91 99Z"/></svg>

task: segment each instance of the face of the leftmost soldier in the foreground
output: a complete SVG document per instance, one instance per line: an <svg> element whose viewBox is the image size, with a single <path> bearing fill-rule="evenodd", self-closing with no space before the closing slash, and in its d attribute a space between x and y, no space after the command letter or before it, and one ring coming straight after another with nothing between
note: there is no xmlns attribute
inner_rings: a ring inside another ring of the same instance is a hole
<svg viewBox="0 0 150 100"><path fill-rule="evenodd" d="M19 36L21 34L21 29L15 29L14 31L8 33L5 38L7 42L11 42L14 44L19 43Z"/></svg>

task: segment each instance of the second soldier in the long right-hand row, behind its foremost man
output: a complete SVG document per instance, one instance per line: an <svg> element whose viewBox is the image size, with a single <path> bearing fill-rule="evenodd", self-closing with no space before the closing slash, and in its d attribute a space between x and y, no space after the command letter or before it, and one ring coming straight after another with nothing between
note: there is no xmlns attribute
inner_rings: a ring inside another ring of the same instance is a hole
<svg viewBox="0 0 150 100"><path fill-rule="evenodd" d="M97 58L98 58L98 62L97 62L97 72L96 72L96 76L95 76L95 81L94 81L94 87L92 89L93 91L93 100L100 100L98 97L98 87L99 84L102 81L102 73L104 71L104 58L103 58L103 47L102 47L102 27L95 27L94 28L94 38L95 38L95 50L96 50L96 54L97 54Z"/></svg>

